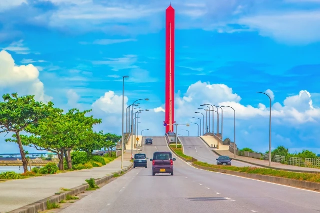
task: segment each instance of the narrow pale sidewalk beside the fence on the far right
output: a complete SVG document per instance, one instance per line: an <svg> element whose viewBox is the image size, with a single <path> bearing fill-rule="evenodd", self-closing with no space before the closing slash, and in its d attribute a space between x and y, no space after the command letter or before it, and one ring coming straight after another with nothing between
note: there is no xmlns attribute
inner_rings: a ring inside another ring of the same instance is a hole
<svg viewBox="0 0 320 213"><path fill-rule="evenodd" d="M228 150L214 150L214 152L219 155L229 156L230 158L234 159L233 158L234 154ZM256 158L248 158L248 157L236 155L234 160L243 161L243 162L250 163L253 165L255 164L255 165L261 166L261 167L266 167L266 168L269 167L268 161L263 161L263 160L256 159ZM281 163L276 163L276 162L271 162L270 168L271 169L288 170L288 171L292 171L292 172L320 172L320 169L316 169L316 168L297 167L297 166L286 165L286 164L281 164Z"/></svg>

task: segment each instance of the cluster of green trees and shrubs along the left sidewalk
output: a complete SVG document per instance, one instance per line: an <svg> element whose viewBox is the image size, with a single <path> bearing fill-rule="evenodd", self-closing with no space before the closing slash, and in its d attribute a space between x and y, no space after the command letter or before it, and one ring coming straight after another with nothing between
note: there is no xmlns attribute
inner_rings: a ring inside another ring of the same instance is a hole
<svg viewBox="0 0 320 213"><path fill-rule="evenodd" d="M34 100L33 95L18 96L17 93L4 94L0 102L0 128L2 133L13 133L6 142L18 145L24 172L28 171L28 160L23 146L36 150L49 151L43 160L51 161L53 154L59 160L58 169L73 170L102 166L114 158L111 149L115 147L120 136L102 131L94 132L93 125L101 123L101 119L87 116L91 110L80 111L53 107L52 102L42 103ZM0 133L1 133L0 132ZM20 135L25 132L25 135ZM93 150L107 150L107 159L92 156ZM72 151L82 151L76 159ZM82 159L82 160L80 160ZM73 166L73 165L75 166ZM33 171L35 174L54 174L53 167ZM31 170L31 169L30 169ZM53 172L52 172L53 171ZM55 171L55 172L54 172Z"/></svg>

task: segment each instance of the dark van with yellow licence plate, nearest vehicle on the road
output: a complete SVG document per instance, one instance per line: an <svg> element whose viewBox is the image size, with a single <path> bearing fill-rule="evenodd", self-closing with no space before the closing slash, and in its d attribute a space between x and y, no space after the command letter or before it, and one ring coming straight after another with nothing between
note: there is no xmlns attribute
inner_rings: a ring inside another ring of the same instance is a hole
<svg viewBox="0 0 320 213"><path fill-rule="evenodd" d="M155 152L153 153L152 161L152 176L157 173L170 173L173 175L173 161L171 152Z"/></svg>

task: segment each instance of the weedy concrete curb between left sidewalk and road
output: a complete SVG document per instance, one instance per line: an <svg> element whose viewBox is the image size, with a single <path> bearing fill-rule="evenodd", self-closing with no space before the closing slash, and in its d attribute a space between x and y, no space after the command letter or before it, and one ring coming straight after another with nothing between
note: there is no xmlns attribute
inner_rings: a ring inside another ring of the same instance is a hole
<svg viewBox="0 0 320 213"><path fill-rule="evenodd" d="M95 184L99 185L101 183L104 183L104 182L112 179L114 174L120 175L121 172L128 171L132 167L133 167L133 164L131 164L126 169L123 169L123 170L118 171L116 173L113 173L111 175L104 176L104 177L102 177L100 179L97 179L97 180L95 180ZM29 204L29 205L26 205L26 206L21 207L19 209L12 210L12 211L10 211L8 213L38 213L38 212L42 212L42 211L46 210L47 201L50 202L50 203L58 203L61 200L65 200L67 195L70 195L70 196L78 195L78 194L84 192L87 188L89 188L89 185L88 184L83 184L81 186L72 188L70 191L63 192L60 195L50 196L48 198L42 199L40 201L37 201L37 202L35 202L33 204Z"/></svg>

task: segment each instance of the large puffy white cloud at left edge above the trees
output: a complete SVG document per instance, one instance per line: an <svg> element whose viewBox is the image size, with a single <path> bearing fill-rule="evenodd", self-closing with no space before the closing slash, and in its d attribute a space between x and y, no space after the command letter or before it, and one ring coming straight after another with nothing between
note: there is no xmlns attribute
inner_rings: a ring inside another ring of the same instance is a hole
<svg viewBox="0 0 320 213"><path fill-rule="evenodd" d="M39 80L39 71L32 64L16 66L12 56L0 51L0 87L18 93L34 95L39 101L49 101L52 97L44 94L43 83Z"/></svg>

